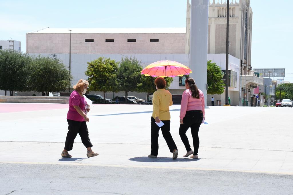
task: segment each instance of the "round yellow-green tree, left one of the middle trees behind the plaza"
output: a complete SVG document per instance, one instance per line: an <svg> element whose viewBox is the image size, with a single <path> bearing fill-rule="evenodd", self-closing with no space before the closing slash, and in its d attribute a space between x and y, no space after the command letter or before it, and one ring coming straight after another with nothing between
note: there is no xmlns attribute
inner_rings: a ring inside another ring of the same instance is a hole
<svg viewBox="0 0 293 195"><path fill-rule="evenodd" d="M88 76L88 82L90 83L89 89L103 92L104 103L106 92L117 91L117 70L118 63L110 58L100 57L88 62L85 74Z"/></svg>

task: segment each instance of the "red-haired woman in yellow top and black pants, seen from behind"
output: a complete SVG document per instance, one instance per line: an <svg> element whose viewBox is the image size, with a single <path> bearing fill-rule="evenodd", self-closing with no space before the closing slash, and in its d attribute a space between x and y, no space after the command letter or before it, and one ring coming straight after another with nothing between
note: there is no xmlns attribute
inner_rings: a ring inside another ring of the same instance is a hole
<svg viewBox="0 0 293 195"><path fill-rule="evenodd" d="M148 157L157 158L159 150L159 130L161 128L162 134L168 148L173 153L173 159L178 156L177 146L170 133L170 110L169 107L173 105L172 95L165 89L166 81L162 77L157 77L155 80L157 91L153 94L153 114L151 116L151 154ZM159 127L156 122L163 122L164 125Z"/></svg>

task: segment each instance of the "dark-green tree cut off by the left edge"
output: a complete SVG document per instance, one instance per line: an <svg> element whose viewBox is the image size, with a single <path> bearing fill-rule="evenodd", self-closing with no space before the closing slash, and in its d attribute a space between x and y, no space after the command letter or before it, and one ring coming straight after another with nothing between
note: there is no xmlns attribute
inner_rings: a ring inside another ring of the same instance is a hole
<svg viewBox="0 0 293 195"><path fill-rule="evenodd" d="M27 91L30 63L32 59L27 54L15 50L0 50L0 89L13 91Z"/></svg>

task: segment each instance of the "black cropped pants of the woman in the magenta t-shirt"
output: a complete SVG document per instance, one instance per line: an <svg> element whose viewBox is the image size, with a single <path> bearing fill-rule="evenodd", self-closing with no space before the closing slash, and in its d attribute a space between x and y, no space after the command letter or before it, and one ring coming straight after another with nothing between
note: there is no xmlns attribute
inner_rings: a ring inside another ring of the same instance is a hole
<svg viewBox="0 0 293 195"><path fill-rule="evenodd" d="M74 139L76 138L76 135L79 134L81 137L81 141L86 146L92 147L93 144L91 143L89 137L88 137L88 127L86 126L86 121L79 122L76 120L68 120L68 133L66 136L65 146L64 150L72 150Z"/></svg>

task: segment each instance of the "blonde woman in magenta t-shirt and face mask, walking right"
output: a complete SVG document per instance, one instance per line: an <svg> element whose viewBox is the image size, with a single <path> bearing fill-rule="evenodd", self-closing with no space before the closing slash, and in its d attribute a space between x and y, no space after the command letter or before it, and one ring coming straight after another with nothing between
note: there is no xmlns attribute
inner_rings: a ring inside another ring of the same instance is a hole
<svg viewBox="0 0 293 195"><path fill-rule="evenodd" d="M67 112L68 133L66 136L64 150L61 154L62 157L71 158L68 151L72 150L74 139L77 134L79 134L82 143L88 150L86 154L88 158L98 156L98 153L94 153L91 150L93 144L88 137L88 128L86 126L86 122L89 121L86 113L89 112L90 109L87 108L87 103L83 94L86 93L87 87L88 81L81 79L76 85L73 86L74 91L70 94L69 111Z"/></svg>

